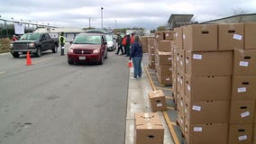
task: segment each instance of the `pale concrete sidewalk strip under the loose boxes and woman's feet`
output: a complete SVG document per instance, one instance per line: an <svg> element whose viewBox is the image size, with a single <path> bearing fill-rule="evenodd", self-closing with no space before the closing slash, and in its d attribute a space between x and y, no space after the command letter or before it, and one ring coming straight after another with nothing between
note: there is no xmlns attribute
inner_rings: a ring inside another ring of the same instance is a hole
<svg viewBox="0 0 256 144"><path fill-rule="evenodd" d="M133 67L130 68L130 77L133 76ZM125 144L133 144L134 137L134 112L151 112L148 93L152 91L148 77L142 67L142 79L130 79L127 98ZM164 120L162 112L158 112L160 120L165 128L164 144L174 144L169 128Z"/></svg>

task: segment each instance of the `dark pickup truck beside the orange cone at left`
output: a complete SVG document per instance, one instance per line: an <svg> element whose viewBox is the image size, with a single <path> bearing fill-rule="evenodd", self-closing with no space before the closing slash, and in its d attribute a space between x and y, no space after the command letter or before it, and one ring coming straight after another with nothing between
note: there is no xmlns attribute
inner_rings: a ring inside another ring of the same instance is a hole
<svg viewBox="0 0 256 144"><path fill-rule="evenodd" d="M56 53L59 47L59 40L51 39L49 33L25 33L20 40L11 43L11 53L14 58L27 53L41 57L41 52L51 49Z"/></svg>

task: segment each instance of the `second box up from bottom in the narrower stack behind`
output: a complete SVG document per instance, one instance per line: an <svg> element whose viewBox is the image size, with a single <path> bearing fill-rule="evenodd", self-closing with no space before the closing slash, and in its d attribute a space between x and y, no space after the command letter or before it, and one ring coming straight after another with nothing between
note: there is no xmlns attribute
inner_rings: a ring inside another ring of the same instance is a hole
<svg viewBox="0 0 256 144"><path fill-rule="evenodd" d="M171 52L158 51L157 58L158 58L156 59L157 65L171 66L171 63L172 63Z"/></svg>

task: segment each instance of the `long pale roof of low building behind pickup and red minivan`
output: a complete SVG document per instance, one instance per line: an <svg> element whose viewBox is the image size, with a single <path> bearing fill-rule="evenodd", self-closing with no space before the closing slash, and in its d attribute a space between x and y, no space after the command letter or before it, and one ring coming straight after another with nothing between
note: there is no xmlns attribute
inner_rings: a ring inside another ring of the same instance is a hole
<svg viewBox="0 0 256 144"><path fill-rule="evenodd" d="M65 33L80 33L85 32L83 29L77 28L39 28L34 32L50 32L50 33L60 33L61 31Z"/></svg>

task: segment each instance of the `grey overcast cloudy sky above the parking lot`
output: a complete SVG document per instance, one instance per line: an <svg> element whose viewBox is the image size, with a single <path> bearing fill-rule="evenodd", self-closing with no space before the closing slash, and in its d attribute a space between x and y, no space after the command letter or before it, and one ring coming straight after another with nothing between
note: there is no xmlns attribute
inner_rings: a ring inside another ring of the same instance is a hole
<svg viewBox="0 0 256 144"><path fill-rule="evenodd" d="M101 7L105 28L166 25L170 14L194 14L194 21L205 22L231 16L242 9L256 14L256 0L0 0L1 18L58 27L101 28ZM116 22L116 23L115 23Z"/></svg>

